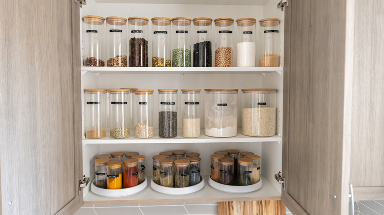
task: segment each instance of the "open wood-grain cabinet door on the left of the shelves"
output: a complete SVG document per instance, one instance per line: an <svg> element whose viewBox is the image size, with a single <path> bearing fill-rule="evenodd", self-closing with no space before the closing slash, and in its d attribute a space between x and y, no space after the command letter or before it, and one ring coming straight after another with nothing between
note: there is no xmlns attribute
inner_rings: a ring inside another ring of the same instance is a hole
<svg viewBox="0 0 384 215"><path fill-rule="evenodd" d="M1 212L73 214L83 204L79 5L0 8Z"/></svg>

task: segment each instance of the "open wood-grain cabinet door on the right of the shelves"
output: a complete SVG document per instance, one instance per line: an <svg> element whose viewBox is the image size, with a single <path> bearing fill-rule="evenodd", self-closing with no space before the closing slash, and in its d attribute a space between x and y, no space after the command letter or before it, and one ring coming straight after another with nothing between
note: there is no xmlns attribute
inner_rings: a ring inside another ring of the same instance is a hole
<svg viewBox="0 0 384 215"><path fill-rule="evenodd" d="M282 200L295 215L345 215L346 1L289 1L284 38Z"/></svg>

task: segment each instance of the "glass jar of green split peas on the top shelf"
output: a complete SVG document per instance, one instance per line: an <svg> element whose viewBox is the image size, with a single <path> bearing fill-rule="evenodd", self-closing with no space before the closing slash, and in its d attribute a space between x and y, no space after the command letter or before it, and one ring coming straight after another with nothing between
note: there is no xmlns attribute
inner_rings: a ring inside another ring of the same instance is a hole
<svg viewBox="0 0 384 215"><path fill-rule="evenodd" d="M191 67L191 19L172 19L172 67Z"/></svg>

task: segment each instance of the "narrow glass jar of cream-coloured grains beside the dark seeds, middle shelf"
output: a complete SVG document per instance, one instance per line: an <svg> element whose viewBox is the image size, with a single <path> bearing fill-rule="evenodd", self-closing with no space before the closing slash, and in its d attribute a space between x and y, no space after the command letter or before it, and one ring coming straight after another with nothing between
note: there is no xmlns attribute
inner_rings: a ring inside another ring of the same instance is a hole
<svg viewBox="0 0 384 215"><path fill-rule="evenodd" d="M200 89L182 89L183 93L183 137L200 136Z"/></svg>

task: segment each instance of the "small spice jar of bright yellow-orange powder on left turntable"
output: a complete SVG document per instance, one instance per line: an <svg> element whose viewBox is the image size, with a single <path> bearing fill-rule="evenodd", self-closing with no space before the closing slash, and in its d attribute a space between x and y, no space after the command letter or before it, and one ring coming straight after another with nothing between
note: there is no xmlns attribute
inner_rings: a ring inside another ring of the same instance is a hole
<svg viewBox="0 0 384 215"><path fill-rule="evenodd" d="M107 162L107 189L121 189L123 187L121 164L122 161Z"/></svg>

